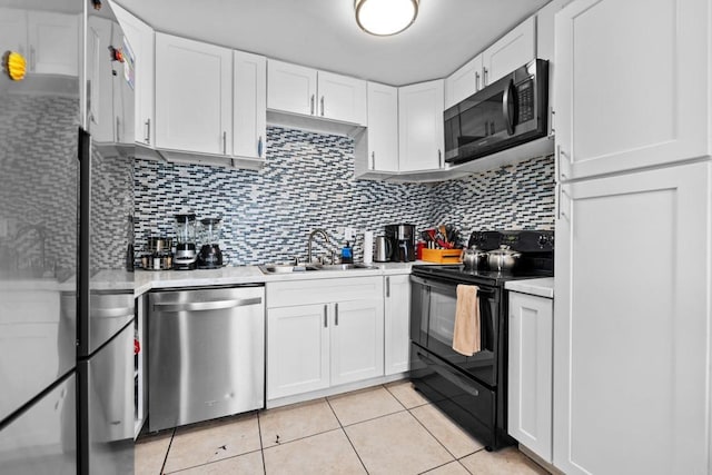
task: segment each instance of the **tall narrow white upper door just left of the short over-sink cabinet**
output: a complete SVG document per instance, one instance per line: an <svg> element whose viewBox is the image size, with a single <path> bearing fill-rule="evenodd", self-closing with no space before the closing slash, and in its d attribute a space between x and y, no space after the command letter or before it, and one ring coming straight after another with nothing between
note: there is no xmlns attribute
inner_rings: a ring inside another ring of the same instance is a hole
<svg viewBox="0 0 712 475"><path fill-rule="evenodd" d="M233 51L233 155L264 158L267 138L267 60Z"/></svg>

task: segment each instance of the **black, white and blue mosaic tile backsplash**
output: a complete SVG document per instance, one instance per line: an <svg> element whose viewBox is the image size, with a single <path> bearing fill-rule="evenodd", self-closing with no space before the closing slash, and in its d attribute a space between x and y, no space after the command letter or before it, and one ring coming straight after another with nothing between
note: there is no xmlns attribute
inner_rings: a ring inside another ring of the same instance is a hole
<svg viewBox="0 0 712 475"><path fill-rule="evenodd" d="M422 230L452 222L473 229L553 229L554 170L551 157L436 185L354 179L354 141L348 137L269 127L267 164L259 171L136 160L134 189L137 255L149 236L174 236L174 215L222 218L221 249L230 265L328 256L346 244L345 226L383 235L385 225L408 222ZM200 239L198 239L200 244Z"/></svg>

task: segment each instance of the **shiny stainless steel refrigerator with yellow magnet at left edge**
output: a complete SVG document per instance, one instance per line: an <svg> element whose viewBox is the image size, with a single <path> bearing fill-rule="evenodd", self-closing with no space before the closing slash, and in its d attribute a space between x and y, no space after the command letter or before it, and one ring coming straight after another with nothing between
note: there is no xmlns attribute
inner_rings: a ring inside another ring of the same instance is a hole
<svg viewBox="0 0 712 475"><path fill-rule="evenodd" d="M132 473L135 58L108 0L0 0L0 473Z"/></svg>

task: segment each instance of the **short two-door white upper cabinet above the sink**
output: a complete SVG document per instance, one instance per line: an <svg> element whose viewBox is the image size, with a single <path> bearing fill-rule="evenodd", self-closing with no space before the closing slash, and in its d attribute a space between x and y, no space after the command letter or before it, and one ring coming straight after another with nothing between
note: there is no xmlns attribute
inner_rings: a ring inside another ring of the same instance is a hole
<svg viewBox="0 0 712 475"><path fill-rule="evenodd" d="M366 125L366 81L269 60L267 108Z"/></svg>

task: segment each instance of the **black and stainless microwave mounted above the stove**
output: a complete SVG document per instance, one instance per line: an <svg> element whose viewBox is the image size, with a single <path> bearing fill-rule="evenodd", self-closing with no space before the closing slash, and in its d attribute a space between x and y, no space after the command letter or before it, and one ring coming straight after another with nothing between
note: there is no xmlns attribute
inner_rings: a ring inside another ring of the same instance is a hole
<svg viewBox="0 0 712 475"><path fill-rule="evenodd" d="M463 164L547 132L548 61L536 59L444 112L445 161Z"/></svg>

